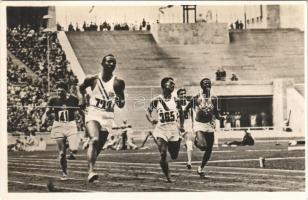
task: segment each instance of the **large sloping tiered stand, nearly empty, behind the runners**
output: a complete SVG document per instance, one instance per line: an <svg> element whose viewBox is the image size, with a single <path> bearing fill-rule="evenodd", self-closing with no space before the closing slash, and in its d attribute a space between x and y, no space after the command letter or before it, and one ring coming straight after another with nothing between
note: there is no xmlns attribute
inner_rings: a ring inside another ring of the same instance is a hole
<svg viewBox="0 0 308 200"><path fill-rule="evenodd" d="M239 80L293 78L304 83L304 34L295 29L235 30L230 32L230 44L200 46L158 45L150 33L142 32L70 32L67 36L86 74L99 72L102 57L112 53L118 61L116 74L128 87L159 86L165 76L174 77L177 86L198 85L203 77L214 79L221 66L227 80L235 73ZM140 88L126 92L147 96ZM144 111L121 115L133 126L148 125Z"/></svg>

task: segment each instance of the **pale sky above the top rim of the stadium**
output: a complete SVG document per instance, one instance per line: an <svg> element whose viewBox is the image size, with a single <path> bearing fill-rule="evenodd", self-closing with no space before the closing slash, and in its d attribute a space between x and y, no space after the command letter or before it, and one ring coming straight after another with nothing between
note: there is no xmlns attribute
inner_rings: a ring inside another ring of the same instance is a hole
<svg viewBox="0 0 308 200"><path fill-rule="evenodd" d="M157 4L157 3L156 3ZM136 4L122 4L118 5L95 5L93 6L56 6L56 18L62 26L67 27L70 22L75 26L76 23L79 27L82 27L84 21L90 24L90 22L96 22L98 25L105 20L112 23L123 23L127 22L130 24L140 24L144 18L147 22L155 23L159 20L161 23L182 23L183 21L183 10L181 4L175 5L171 8L162 9L160 7L166 7L167 5L136 5ZM294 6L293 6L294 7ZM299 7L299 6L297 6ZM302 7L303 8L303 7ZM263 8L264 9L264 8ZM239 19L244 21L244 11L246 10L247 17L260 16L260 4L246 3L244 5L241 2L232 5L197 5L197 18L206 18L209 13L212 15L212 21L231 23ZM304 9L302 12L290 12L291 15L297 15L304 24ZM193 19L193 12L189 16ZM298 20L296 20L298 22Z"/></svg>

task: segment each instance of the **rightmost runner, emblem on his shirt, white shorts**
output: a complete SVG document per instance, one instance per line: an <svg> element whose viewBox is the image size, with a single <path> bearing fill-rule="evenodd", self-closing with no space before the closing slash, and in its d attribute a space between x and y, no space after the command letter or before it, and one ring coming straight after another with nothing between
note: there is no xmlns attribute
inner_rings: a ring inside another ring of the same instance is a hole
<svg viewBox="0 0 308 200"><path fill-rule="evenodd" d="M211 96L211 80L204 78L200 81L201 92L197 94L186 106L184 112L190 108L195 109L194 131L195 145L204 151L201 166L197 173L205 177L204 167L211 157L214 144L215 118L219 119L218 98Z"/></svg>

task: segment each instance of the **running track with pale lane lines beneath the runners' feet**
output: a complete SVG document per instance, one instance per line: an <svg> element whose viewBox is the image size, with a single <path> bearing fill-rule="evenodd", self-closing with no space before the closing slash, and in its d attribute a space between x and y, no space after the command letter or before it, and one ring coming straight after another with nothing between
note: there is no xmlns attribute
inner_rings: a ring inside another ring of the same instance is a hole
<svg viewBox="0 0 308 200"><path fill-rule="evenodd" d="M86 152L78 153L77 160L68 160L67 181L60 179L62 171L56 151L12 152L7 161L8 191L47 192L45 186L49 181L59 192L305 191L304 152L280 148L265 154L222 149L224 152L215 155L206 166L205 179L196 173L199 159L194 159L193 168L188 170L182 153L176 161L168 158L172 183L165 182L159 155L154 149L103 152L95 165L100 177L95 184L87 182ZM258 167L262 155L266 157L266 168Z"/></svg>

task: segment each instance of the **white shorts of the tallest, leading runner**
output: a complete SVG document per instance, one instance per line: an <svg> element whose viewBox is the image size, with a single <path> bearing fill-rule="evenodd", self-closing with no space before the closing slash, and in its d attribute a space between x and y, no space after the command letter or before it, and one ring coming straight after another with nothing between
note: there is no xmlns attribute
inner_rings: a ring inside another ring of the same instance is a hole
<svg viewBox="0 0 308 200"><path fill-rule="evenodd" d="M108 133L111 133L114 122L114 113L89 107L85 114L85 121L86 124L89 121L97 121L101 125L102 131L108 131Z"/></svg>

